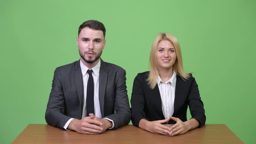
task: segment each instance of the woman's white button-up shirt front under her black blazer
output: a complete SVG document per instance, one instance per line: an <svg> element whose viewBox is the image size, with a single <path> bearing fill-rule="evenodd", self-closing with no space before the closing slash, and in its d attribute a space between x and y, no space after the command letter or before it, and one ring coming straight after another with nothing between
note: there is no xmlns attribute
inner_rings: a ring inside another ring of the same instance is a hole
<svg viewBox="0 0 256 144"><path fill-rule="evenodd" d="M174 113L174 98L175 98L175 86L176 86L176 72L173 71L171 79L167 82L163 82L158 75L158 88L162 100L162 111L164 118L172 116Z"/></svg>

